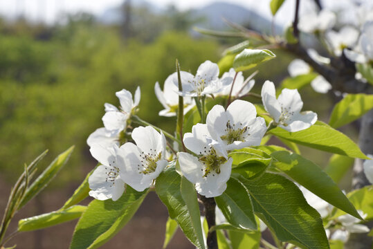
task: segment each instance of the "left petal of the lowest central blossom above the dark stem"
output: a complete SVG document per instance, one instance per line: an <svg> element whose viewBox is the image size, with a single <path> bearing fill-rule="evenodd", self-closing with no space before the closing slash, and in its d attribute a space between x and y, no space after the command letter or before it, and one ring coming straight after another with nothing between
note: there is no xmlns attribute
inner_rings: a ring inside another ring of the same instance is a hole
<svg viewBox="0 0 373 249"><path fill-rule="evenodd" d="M177 154L179 165L183 176L191 183L197 183L203 179L203 164L197 157L185 152Z"/></svg>

